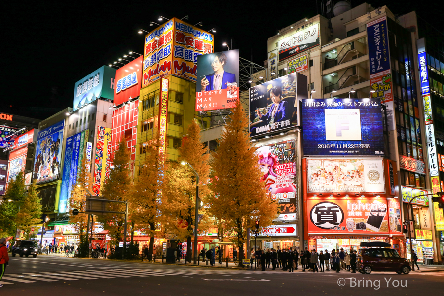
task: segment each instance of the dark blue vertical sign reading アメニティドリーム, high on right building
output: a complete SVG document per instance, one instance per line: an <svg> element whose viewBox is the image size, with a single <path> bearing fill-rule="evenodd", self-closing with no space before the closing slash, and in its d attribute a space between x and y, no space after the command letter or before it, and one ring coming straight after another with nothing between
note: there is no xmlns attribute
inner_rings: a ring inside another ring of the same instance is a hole
<svg viewBox="0 0 444 296"><path fill-rule="evenodd" d="M387 19L381 17L367 24L369 43L370 78L390 72L390 52Z"/></svg>

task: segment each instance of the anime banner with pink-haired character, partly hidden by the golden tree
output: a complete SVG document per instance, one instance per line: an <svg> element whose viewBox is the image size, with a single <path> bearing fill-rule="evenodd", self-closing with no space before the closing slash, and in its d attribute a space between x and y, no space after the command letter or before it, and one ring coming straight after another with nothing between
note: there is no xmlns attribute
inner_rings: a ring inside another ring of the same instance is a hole
<svg viewBox="0 0 444 296"><path fill-rule="evenodd" d="M292 140L277 142L256 148L262 180L273 200L281 205L278 220L296 220L296 148Z"/></svg>

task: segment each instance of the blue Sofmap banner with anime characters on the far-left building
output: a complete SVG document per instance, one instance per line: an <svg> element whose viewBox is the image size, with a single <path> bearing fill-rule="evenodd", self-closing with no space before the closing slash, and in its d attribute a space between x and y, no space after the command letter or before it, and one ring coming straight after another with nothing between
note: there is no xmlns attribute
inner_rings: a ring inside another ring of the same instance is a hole
<svg viewBox="0 0 444 296"><path fill-rule="evenodd" d="M62 120L38 133L34 161L37 184L59 178L64 127L65 120Z"/></svg>

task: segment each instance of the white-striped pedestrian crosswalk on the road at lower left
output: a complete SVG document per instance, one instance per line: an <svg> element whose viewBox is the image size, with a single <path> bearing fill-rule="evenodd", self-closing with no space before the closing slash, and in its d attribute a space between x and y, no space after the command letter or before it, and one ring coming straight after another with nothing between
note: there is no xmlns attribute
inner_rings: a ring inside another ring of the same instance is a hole
<svg viewBox="0 0 444 296"><path fill-rule="evenodd" d="M225 275L252 274L254 271L232 270L232 269L209 269L209 268L101 268L95 270L72 270L54 272L27 272L22 274L5 274L1 280L2 285L29 284L38 282L97 280L133 277L159 277L159 276L185 276L193 275Z"/></svg>

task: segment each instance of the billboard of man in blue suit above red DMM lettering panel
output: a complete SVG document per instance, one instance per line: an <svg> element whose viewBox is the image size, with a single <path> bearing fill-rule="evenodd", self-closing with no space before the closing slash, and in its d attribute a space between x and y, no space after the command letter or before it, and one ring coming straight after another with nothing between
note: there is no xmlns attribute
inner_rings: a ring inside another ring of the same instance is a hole
<svg viewBox="0 0 444 296"><path fill-rule="evenodd" d="M239 49L197 58L196 110L233 108L239 100Z"/></svg>

